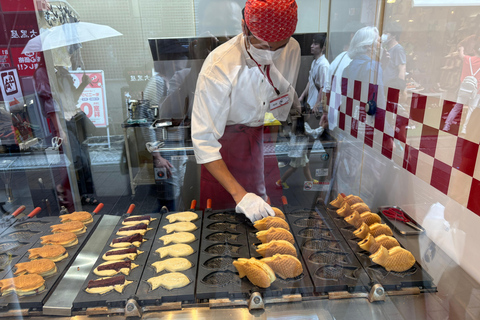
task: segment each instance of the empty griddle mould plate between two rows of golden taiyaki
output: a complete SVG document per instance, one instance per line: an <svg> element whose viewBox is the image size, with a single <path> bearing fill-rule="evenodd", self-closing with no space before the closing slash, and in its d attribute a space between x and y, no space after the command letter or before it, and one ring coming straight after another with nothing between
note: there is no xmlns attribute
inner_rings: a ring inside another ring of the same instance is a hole
<svg viewBox="0 0 480 320"><path fill-rule="evenodd" d="M315 292L367 290L367 274L328 216L302 207L285 211Z"/></svg>

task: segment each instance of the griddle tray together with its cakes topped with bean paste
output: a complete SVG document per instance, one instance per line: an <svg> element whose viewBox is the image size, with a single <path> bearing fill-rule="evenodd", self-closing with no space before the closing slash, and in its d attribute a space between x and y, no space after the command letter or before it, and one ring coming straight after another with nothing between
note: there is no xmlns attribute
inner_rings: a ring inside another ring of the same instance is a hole
<svg viewBox="0 0 480 320"><path fill-rule="evenodd" d="M115 226L75 297L73 310L123 308L135 295L161 215L129 215L133 208Z"/></svg>

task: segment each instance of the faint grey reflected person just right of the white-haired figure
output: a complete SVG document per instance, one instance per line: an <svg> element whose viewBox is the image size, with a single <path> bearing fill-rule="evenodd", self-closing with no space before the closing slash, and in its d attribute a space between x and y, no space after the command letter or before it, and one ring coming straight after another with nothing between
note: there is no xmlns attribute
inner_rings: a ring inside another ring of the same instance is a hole
<svg viewBox="0 0 480 320"><path fill-rule="evenodd" d="M407 56L405 49L398 43L402 28L397 23L387 23L382 35L382 47L386 52L382 55L383 84L392 87L395 79L405 81Z"/></svg>

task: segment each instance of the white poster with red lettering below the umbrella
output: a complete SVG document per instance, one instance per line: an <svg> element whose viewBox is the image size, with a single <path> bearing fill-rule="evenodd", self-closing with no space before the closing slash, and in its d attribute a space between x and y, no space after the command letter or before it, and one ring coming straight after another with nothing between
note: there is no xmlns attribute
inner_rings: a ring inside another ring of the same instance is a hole
<svg viewBox="0 0 480 320"><path fill-rule="evenodd" d="M90 77L90 84L83 90L78 99L77 108L80 108L97 128L108 126L107 100L103 70L71 71L73 84L76 88L86 74Z"/></svg>

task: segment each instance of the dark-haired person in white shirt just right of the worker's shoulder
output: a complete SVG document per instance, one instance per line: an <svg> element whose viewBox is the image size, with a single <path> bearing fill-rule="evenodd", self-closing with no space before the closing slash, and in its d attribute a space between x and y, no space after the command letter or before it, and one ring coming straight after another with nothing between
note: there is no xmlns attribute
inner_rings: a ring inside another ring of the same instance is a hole
<svg viewBox="0 0 480 320"><path fill-rule="evenodd" d="M315 114L322 112L322 97L325 91L325 83L328 81L328 67L330 64L324 54L325 41L325 34L317 34L313 37L310 47L313 61L308 74L308 83L299 98L300 103L306 101L308 110Z"/></svg>

